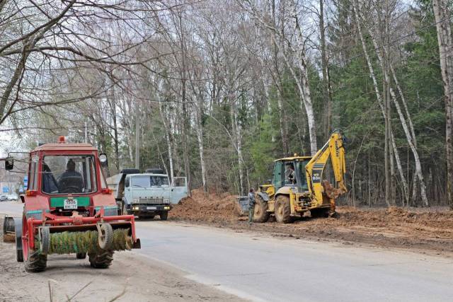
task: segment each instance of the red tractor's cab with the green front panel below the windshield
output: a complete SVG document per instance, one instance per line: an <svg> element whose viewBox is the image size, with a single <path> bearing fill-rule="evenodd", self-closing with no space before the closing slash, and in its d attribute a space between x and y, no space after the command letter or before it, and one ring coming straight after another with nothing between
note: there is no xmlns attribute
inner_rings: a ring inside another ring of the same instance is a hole
<svg viewBox="0 0 453 302"><path fill-rule="evenodd" d="M59 216L72 216L74 210L93 216L101 204L106 215L117 214L115 199L105 184L102 157L90 144L67 144L63 139L38 146L30 152L25 199L38 197L42 207ZM29 207L25 204L27 214ZM40 213L31 216L38 218Z"/></svg>

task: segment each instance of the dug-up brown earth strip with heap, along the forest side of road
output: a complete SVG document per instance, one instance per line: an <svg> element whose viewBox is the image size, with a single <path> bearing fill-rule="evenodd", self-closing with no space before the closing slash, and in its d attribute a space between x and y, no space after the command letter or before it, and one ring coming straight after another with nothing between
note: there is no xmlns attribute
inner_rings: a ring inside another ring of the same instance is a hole
<svg viewBox="0 0 453 302"><path fill-rule="evenodd" d="M391 248L408 248L421 252L453 256L453 211L448 209L369 209L337 207L336 218L312 219L308 214L294 223L267 223L248 226L240 216L236 196L205 196L193 190L169 214L169 219L203 223L235 230L270 233L273 236L340 240Z"/></svg>

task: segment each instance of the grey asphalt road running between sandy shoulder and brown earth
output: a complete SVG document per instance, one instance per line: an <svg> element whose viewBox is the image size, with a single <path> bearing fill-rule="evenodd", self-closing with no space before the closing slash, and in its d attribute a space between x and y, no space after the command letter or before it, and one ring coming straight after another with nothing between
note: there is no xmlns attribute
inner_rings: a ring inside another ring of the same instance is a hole
<svg viewBox="0 0 453 302"><path fill-rule="evenodd" d="M0 213L21 212L0 203ZM253 301L452 301L453 260L399 250L268 238L170 221L138 221L149 261ZM149 277L152 278L152 272Z"/></svg>

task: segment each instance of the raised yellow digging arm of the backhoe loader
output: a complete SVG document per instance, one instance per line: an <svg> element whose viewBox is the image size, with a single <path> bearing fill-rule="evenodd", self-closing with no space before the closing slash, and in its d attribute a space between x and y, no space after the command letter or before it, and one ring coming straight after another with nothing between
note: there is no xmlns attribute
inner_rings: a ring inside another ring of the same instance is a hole
<svg viewBox="0 0 453 302"><path fill-rule="evenodd" d="M335 199L341 194L348 192L345 184L345 149L343 146L345 137L342 132L336 130L331 134L330 139L316 152L306 164L306 183L312 200L316 199L319 204L323 202L323 194L331 199L331 207L335 209ZM322 175L328 158L331 158L332 170L335 175L336 184L331 185L327 180L322 181Z"/></svg>

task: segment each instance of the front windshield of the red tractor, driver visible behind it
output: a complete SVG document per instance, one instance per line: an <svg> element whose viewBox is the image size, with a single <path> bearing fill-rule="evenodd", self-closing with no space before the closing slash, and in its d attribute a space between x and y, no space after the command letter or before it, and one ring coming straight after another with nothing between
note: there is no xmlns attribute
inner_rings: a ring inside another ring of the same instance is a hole
<svg viewBox="0 0 453 302"><path fill-rule="evenodd" d="M42 160L42 192L47 194L96 192L94 156L45 156Z"/></svg>

